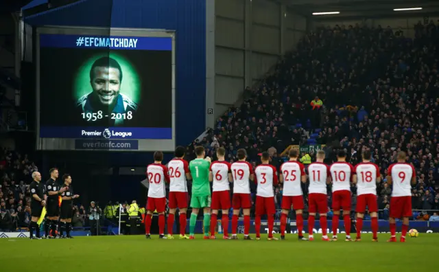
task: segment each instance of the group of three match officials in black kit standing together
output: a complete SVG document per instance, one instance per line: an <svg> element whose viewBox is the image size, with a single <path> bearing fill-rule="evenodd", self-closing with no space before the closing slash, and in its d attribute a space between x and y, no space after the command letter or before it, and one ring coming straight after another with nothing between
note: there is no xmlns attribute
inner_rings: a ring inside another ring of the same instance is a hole
<svg viewBox="0 0 439 272"><path fill-rule="evenodd" d="M29 185L31 194L31 221L29 234L31 239L54 239L71 237L71 218L73 216L73 199L78 199L78 194L73 194L70 174L62 175L62 184L57 181L59 172L57 168L49 170L50 179L45 184L41 183L40 172L32 173L32 183ZM40 220L46 208L45 236L40 235ZM36 236L34 236L34 231ZM64 236L64 232L66 236Z"/></svg>

